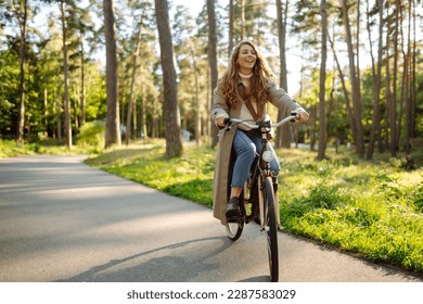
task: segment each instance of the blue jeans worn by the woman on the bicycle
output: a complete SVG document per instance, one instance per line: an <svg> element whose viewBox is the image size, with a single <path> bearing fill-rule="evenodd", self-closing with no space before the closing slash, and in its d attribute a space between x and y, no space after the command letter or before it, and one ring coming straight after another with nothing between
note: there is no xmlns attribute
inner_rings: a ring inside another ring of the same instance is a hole
<svg viewBox="0 0 423 304"><path fill-rule="evenodd" d="M268 147L273 150L270 143ZM253 165L254 159L256 157L256 152L259 153L261 150L261 137L249 139L242 130L238 129L233 139L233 149L235 151L236 160L233 165L231 187L244 188L244 183L249 175L249 169ZM270 168L277 175L281 170L281 166L277 157L270 162Z"/></svg>

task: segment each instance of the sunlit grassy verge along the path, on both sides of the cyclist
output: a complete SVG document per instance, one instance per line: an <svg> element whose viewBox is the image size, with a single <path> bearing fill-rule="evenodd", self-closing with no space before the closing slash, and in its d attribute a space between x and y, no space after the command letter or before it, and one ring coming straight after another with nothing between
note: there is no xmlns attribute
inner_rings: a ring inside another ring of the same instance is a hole
<svg viewBox="0 0 423 304"><path fill-rule="evenodd" d="M163 145L117 149L92 166L211 206L216 151L187 148L164 160ZM286 231L423 274L423 168L401 160L357 161L350 152L279 150L281 224Z"/></svg>

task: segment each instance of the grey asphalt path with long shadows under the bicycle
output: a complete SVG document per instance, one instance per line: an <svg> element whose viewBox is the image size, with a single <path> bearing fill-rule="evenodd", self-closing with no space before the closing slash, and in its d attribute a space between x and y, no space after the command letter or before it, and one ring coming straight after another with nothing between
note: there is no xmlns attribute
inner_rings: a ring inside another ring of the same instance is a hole
<svg viewBox="0 0 423 304"><path fill-rule="evenodd" d="M2 282L266 282L255 224L232 242L211 210L82 163L0 160ZM401 270L279 233L280 281L420 282Z"/></svg>

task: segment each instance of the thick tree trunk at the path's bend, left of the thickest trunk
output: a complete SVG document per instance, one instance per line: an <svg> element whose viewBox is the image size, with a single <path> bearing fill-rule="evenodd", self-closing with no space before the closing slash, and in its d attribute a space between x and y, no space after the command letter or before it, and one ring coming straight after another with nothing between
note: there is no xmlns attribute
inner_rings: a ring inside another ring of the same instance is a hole
<svg viewBox="0 0 423 304"><path fill-rule="evenodd" d="M113 144L120 145L120 122L118 103L118 73L116 50L116 24L114 1L103 0L104 35L106 45L106 102L107 113L105 123L104 148Z"/></svg>

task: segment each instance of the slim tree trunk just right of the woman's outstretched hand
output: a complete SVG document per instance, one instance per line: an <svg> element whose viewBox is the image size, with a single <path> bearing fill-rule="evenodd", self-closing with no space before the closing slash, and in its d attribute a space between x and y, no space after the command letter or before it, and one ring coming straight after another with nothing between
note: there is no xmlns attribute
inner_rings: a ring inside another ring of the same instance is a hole
<svg viewBox="0 0 423 304"><path fill-rule="evenodd" d="M324 154L326 150L326 103L324 100L325 94L325 80L326 80L326 54L328 54L328 15L326 15L326 1L320 1L320 15L322 23L322 58L320 62L320 75L319 75L319 118L320 118L320 128L319 128L319 152L318 161L324 160Z"/></svg>

